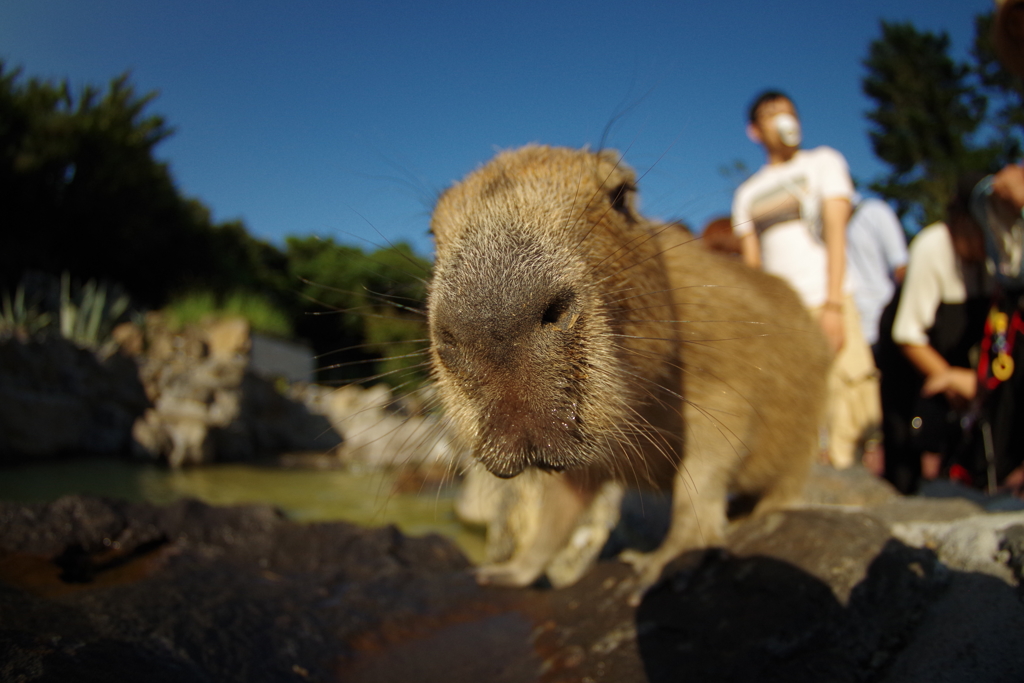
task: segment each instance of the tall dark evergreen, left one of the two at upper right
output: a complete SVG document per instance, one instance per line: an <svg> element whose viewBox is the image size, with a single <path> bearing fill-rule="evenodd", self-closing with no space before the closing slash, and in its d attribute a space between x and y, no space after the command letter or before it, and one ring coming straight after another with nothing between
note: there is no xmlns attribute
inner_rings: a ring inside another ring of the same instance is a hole
<svg viewBox="0 0 1024 683"><path fill-rule="evenodd" d="M1002 152L975 141L986 99L972 87L970 66L948 50L945 33L883 22L863 62L862 88L874 101L868 136L890 167L870 187L919 226L944 216L959 175L991 169Z"/></svg>

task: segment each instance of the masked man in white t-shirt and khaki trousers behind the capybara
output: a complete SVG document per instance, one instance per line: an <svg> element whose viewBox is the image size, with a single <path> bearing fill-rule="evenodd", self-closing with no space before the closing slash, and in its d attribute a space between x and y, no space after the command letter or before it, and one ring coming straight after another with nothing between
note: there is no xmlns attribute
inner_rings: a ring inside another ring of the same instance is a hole
<svg viewBox="0 0 1024 683"><path fill-rule="evenodd" d="M849 467L881 422L878 378L846 276L846 228L853 182L831 147L801 150L793 100L757 97L746 126L767 163L737 189L733 230L743 261L785 280L817 317L836 354L829 371L828 455ZM878 458L878 454L872 454ZM881 471L881 462L866 462Z"/></svg>

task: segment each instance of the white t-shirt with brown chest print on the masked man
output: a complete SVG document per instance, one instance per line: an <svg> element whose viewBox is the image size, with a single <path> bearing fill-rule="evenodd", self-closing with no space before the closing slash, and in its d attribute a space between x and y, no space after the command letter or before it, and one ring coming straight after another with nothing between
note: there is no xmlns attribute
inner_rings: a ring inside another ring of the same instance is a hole
<svg viewBox="0 0 1024 683"><path fill-rule="evenodd" d="M846 159L831 147L801 150L783 164L762 166L732 200L737 237L756 232L764 269L815 308L828 296L828 254L821 239L821 205L850 199L853 182ZM850 292L849 279L844 291Z"/></svg>

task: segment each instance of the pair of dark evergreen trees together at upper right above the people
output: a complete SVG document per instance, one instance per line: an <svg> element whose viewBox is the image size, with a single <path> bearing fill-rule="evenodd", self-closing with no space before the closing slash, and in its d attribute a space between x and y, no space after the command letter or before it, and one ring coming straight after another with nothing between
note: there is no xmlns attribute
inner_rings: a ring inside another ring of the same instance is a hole
<svg viewBox="0 0 1024 683"><path fill-rule="evenodd" d="M890 171L871 189L911 226L944 217L958 177L992 172L1024 151L1024 84L995 54L991 12L975 17L970 59L949 56L945 33L881 25L864 67L874 154Z"/></svg>

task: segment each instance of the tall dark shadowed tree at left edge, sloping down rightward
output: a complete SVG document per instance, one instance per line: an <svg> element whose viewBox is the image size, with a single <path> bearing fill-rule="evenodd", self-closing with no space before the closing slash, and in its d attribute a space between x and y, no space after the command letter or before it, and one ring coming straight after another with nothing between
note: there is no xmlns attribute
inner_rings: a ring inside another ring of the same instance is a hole
<svg viewBox="0 0 1024 683"><path fill-rule="evenodd" d="M0 61L0 288L27 270L108 280L160 305L189 288L273 290L284 255L214 224L154 155L172 134L127 75L78 94Z"/></svg>

